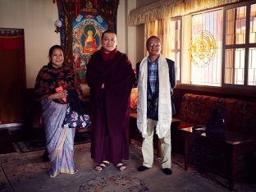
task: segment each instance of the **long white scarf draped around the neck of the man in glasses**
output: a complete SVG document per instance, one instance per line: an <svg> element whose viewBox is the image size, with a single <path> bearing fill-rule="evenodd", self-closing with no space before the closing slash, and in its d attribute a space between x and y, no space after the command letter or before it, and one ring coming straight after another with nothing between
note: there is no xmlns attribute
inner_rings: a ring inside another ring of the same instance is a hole
<svg viewBox="0 0 256 192"><path fill-rule="evenodd" d="M140 62L138 82L137 126L142 135L147 133L147 86L148 86L148 57ZM171 84L169 67L165 57L158 57L159 103L158 124L156 133L162 139L167 130L171 129Z"/></svg>

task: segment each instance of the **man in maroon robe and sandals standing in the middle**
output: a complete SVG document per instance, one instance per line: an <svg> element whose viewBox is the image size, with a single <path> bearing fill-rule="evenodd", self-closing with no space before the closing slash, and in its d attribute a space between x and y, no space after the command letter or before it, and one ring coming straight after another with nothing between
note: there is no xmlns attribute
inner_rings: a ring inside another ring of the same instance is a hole
<svg viewBox="0 0 256 192"><path fill-rule="evenodd" d="M117 51L117 34L107 30L103 47L89 59L86 79L93 103L91 157L95 170L110 162L123 171L129 158L130 91L135 82L129 58Z"/></svg>

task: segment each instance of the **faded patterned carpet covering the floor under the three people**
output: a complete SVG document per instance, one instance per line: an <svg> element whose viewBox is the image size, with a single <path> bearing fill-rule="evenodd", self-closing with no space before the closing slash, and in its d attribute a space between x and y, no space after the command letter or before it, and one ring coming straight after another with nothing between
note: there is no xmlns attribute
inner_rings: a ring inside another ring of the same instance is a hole
<svg viewBox="0 0 256 192"><path fill-rule="evenodd" d="M56 178L48 177L49 162L42 159L44 150L0 155L0 191L228 191L227 181L222 177L197 171L191 165L188 171L184 171L184 158L178 153L172 153L173 174L166 176L157 157L148 171L137 171L142 163L141 144L134 140L130 145L130 160L124 161L126 171L117 171L113 165L103 171L94 171L89 148L89 143L75 145L78 173L61 174ZM235 182L234 191L253 192L256 191L256 184L239 180Z"/></svg>

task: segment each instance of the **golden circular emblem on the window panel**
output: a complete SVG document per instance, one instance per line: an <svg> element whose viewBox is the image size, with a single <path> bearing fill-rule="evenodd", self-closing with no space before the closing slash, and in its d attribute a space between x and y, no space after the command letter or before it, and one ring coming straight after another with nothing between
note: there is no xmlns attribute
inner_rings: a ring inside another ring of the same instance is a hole
<svg viewBox="0 0 256 192"><path fill-rule="evenodd" d="M190 45L190 55L195 66L208 66L215 54L216 41L213 34L206 30L194 34Z"/></svg>

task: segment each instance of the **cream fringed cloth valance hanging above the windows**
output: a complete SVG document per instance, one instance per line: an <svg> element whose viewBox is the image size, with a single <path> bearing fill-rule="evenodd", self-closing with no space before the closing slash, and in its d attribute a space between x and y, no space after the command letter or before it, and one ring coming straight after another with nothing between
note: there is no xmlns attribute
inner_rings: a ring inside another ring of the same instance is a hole
<svg viewBox="0 0 256 192"><path fill-rule="evenodd" d="M130 11L128 21L130 26L140 25L158 19L185 16L195 11L224 6L234 2L243 2L243 0L162 0Z"/></svg>

